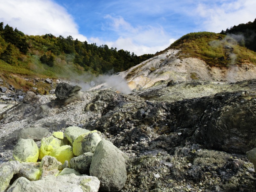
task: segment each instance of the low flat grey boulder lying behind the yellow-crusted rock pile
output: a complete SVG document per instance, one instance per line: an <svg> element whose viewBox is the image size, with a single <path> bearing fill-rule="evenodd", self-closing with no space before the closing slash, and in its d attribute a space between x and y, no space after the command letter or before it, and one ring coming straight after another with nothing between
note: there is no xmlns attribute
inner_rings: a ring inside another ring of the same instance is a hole
<svg viewBox="0 0 256 192"><path fill-rule="evenodd" d="M50 132L43 127L29 127L20 130L17 140L33 139L34 141L39 141L46 137L48 134L50 134Z"/></svg>

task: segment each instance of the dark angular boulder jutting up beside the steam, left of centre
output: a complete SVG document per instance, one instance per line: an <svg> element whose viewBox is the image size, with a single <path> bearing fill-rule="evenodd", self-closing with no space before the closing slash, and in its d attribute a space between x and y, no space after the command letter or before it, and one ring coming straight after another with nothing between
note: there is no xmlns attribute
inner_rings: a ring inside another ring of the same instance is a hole
<svg viewBox="0 0 256 192"><path fill-rule="evenodd" d="M59 83L55 89L55 95L60 100L68 99L70 97L81 98L80 90L82 89L79 85L70 85L68 83Z"/></svg>

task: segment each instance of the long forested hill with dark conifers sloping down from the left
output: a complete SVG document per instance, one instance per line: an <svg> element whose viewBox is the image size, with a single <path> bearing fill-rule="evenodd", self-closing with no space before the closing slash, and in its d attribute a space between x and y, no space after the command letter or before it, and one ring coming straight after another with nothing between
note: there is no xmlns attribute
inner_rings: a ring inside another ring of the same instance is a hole
<svg viewBox="0 0 256 192"><path fill-rule="evenodd" d="M32 71L52 77L65 76L63 68L76 72L90 71L94 74L103 74L110 70L119 72L153 56L137 56L133 52L109 48L107 45L88 44L86 41L74 40L72 36L28 36L17 28L0 23L0 65L8 63L17 66L22 68L20 71L23 73ZM10 66L5 66L4 69L8 70Z"/></svg>

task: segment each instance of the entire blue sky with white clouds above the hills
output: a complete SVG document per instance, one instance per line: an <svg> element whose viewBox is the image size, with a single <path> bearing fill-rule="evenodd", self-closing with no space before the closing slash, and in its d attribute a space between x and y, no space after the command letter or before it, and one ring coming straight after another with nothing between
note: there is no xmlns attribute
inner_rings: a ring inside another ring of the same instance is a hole
<svg viewBox="0 0 256 192"><path fill-rule="evenodd" d="M179 37L256 18L255 0L0 0L0 22L28 35L71 35L137 55Z"/></svg>

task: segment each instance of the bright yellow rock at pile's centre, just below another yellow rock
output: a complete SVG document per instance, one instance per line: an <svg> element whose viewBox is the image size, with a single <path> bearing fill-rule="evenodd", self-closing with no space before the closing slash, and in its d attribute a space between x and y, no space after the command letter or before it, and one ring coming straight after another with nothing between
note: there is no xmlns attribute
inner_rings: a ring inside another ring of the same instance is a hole
<svg viewBox="0 0 256 192"><path fill-rule="evenodd" d="M50 156L55 157L60 163L64 164L66 160L70 161L74 157L73 148L69 145L63 145L53 149Z"/></svg>

